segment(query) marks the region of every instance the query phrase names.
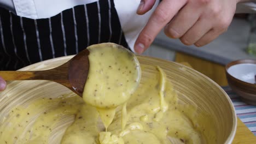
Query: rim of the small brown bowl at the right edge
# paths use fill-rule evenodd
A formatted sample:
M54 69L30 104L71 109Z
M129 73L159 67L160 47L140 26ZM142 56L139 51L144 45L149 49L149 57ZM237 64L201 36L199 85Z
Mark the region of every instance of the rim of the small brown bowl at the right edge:
M255 85L255 84L249 83L249 82L246 82L246 81L242 81L242 80L239 80L239 79L236 79L236 77L232 76L232 75L229 74L229 72L228 72L228 69L229 69L230 67L232 67L233 65L237 65L237 64L246 64L246 63L256 64L256 60L255 60L255 59L238 59L237 61L232 61L232 62L226 64L225 70L226 70L227 78L228 78L228 77L231 77L232 80L235 80L235 81L237 81L238 83L242 83L242 85L245 85L245 86L247 86L247 87L252 87L252 88L255 88L255 89L256 89L256 85Z

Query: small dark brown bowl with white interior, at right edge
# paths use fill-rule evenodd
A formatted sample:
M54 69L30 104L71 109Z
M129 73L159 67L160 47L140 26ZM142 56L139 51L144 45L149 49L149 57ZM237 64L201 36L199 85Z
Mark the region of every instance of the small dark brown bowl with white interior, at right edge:
M242 59L227 64L226 78L245 103L256 105L256 60Z

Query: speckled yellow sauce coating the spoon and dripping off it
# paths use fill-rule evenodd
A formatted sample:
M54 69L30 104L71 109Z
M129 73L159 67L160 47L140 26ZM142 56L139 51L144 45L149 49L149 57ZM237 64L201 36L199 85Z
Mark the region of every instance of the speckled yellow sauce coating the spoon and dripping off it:
M90 69L83 99L97 108L107 130L115 108L124 104L138 87L141 68L136 56L120 45L91 45L88 50ZM123 110L125 112L125 107Z

